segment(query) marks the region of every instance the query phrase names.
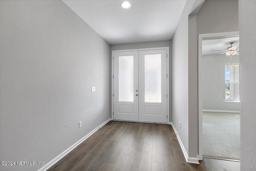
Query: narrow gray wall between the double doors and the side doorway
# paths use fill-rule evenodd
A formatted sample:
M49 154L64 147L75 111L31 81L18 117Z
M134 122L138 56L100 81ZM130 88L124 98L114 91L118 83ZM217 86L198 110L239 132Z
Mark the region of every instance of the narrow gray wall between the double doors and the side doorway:
M172 123L188 153L188 14L187 1L172 39ZM181 128L179 127L181 122Z

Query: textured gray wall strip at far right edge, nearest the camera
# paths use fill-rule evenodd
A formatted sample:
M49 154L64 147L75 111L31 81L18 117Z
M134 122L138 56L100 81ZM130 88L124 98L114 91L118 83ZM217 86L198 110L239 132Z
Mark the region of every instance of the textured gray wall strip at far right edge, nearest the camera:
M256 1L239 0L241 170L256 170Z

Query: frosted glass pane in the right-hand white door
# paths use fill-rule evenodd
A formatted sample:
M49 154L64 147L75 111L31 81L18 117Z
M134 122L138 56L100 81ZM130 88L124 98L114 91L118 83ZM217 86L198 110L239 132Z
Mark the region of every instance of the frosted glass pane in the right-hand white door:
M145 102L161 103L161 54L145 55Z

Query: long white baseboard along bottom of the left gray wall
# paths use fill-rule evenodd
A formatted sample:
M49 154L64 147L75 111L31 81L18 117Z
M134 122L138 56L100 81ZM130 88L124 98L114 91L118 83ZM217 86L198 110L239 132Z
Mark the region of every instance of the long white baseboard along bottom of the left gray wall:
M76 148L76 146L78 146L80 143L82 143L84 140L86 140L88 137L90 137L94 132L98 131L99 127L104 126L106 123L108 123L109 121L111 121L112 119L108 119L106 121L104 121L102 124L100 124L98 127L96 127L94 130L92 130L90 133L88 133L87 135L85 135L84 137L82 137L80 140L78 140L76 143L74 143L73 145L71 145L68 149L66 149L65 151L63 151L60 155L58 155L57 157L55 157L54 159L52 159L49 163L47 163L46 165L44 165L44 167L41 167L38 171L46 171L47 169L49 169L50 167L52 167L52 165L54 165L55 163L57 163L60 159L62 159L62 157L64 157L65 155L67 155L70 151L72 151L74 148Z

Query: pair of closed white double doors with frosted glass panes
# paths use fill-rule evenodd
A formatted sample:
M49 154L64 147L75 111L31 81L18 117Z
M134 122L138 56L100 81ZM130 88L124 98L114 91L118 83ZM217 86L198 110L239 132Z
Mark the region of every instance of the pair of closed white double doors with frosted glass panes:
M114 120L167 123L167 50L114 52Z

